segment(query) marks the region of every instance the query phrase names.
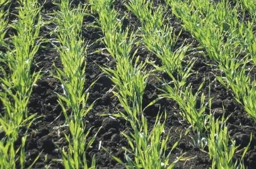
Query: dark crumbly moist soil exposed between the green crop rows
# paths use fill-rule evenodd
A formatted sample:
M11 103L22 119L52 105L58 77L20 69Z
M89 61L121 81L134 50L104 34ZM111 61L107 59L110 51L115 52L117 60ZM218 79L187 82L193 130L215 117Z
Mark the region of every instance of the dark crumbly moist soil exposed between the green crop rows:
M79 2L74 1L73 4L77 5ZM54 10L58 10L51 1L40 2L42 5L43 20L49 21L51 19L50 13ZM166 6L163 1L155 1L154 6L159 5ZM9 16L9 22L15 19L14 14L17 10L14 9L18 6L15 1L11 5L11 13ZM123 17L127 13L127 17L123 22L123 27L130 26L131 30L138 30L141 26L139 20L128 11L123 1L115 1L114 6L119 11L119 17ZM171 9L167 10L166 15L170 17L167 24L174 27L174 31L178 32L182 30L181 20L176 19L171 15ZM249 16L249 15L247 15ZM101 67L115 68L115 61L109 55L104 44L101 42L103 37L101 28L97 27L96 19L97 15L86 15L84 19L84 27L82 36L90 44L87 50L86 57L86 84L85 88L88 88L91 83L96 81L90 91L89 104L94 102L93 110L84 119L86 123L86 130L91 128L89 139L97 134L93 146L87 151L87 162L90 164L93 155L96 157L97 168L124 168L121 164L118 164L111 158L111 155L117 156L125 162L124 151L122 147L129 147L126 139L121 135L121 132L127 132L129 129L129 123L121 118L114 118L106 114L118 113L119 102L117 98L113 96L111 90L113 84L109 77L103 74ZM248 20L249 17L247 17ZM55 38L50 34L51 29L54 29L55 24L49 23L42 26L41 35L47 39ZM15 34L13 30L9 30L7 38ZM178 42L175 48L179 47L183 42L185 44L193 44L193 47L198 47L198 42L191 36L186 30L182 30L182 34L178 38ZM1 48L2 51L4 49ZM95 52L99 51L101 52ZM142 57L142 60L146 57L150 57L150 60L161 63L156 56L149 51L145 50L143 45L134 47L134 51L138 50L137 55ZM189 52L188 57L185 59L183 66L186 67L187 61L195 59L193 71L195 72L187 81L187 84L191 83L193 91L195 92L198 86L205 79L202 92L208 96L210 90L210 97L213 98L211 105L211 112L214 113L214 117L221 117L225 112L225 116L230 116L227 120L227 126L229 134L233 138L237 145L240 145L239 149L243 149L250 142L250 135L253 135L253 139L250 143L249 151L247 152L244 163L248 169L256 168L256 123L253 119L247 117L247 114L243 107L235 101L231 90L227 90L217 80L216 75L220 76L221 72L215 67L216 63L209 60L206 56L199 54L199 52ZM33 168L63 168L61 163L61 151L67 146L64 134L69 133L65 118L62 115L61 106L58 104L58 97L56 93L63 93L61 84L57 79L54 79L55 67L61 68L61 60L59 59L58 52L54 49L51 42L45 42L35 56L33 70L42 71L43 77L38 81L37 85L33 88L29 103L29 112L37 113L37 119L35 119L33 125L29 129L29 136L26 143L26 167L33 163L34 159L39 155L39 159L34 164ZM151 69L150 67L148 68ZM162 73L156 73L160 79L166 79L166 75ZM157 80L155 76L149 77L149 83L146 86L145 94L143 97L143 105L146 106L151 101L156 99L159 94L162 94L159 88L162 87L162 83ZM168 79L166 79L168 80ZM173 145L176 141L179 141L177 149L171 152L171 160L175 160L178 156L182 155L189 157L190 160L178 162L175 166L178 168L198 168L205 169L211 166L211 161L207 153L200 149L200 146L196 144L196 135L190 132L186 134L189 124L179 115L179 106L173 100L162 99L159 100L153 106L150 106L145 110L145 116L149 122L149 126L153 126L155 117L158 112L167 113L165 130L166 133L170 132L170 143ZM209 112L209 110L208 110ZM102 116L104 115L105 116ZM21 135L24 133L21 130ZM180 135L182 133L182 138ZM193 139L194 141L193 142ZM17 141L17 146L20 141ZM105 147L111 155L99 148L100 145ZM241 154L236 154L234 160L239 158ZM145 168L146 169L146 168Z

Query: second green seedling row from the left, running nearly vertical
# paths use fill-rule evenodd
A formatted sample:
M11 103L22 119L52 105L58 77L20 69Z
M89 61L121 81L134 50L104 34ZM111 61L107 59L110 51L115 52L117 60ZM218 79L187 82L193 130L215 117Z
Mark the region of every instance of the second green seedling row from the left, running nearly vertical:
M87 6L79 3L73 6L69 0L56 3L54 22L57 28L53 33L57 36L54 42L63 68L56 68L57 78L63 88L58 94L58 102L62 107L69 134L65 134L67 147L63 147L62 160L67 168L96 168L95 156L88 162L86 151L93 144L95 135L88 139L90 129L86 130L85 117L93 108L88 105L88 90L85 90L85 69L87 44L82 38L83 18ZM90 166L90 167L89 167Z

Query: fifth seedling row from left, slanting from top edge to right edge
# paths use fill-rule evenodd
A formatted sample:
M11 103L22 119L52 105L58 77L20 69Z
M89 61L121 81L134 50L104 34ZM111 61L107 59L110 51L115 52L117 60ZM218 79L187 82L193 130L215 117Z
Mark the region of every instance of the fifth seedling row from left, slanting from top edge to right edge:
M233 90L235 99L244 106L249 116L256 120L256 105L254 104L256 81L251 80L250 70L246 69L250 59L247 56L241 59L241 48L237 40L229 36L228 32L227 34L223 32L226 26L225 15L219 10L203 6L207 3L203 3L204 0L198 0L197 3L193 1L191 5L189 5L190 1L166 0L166 2L172 7L174 15L182 20L186 30L189 30L205 48L210 59L216 61L217 66L225 75L217 79ZM216 16L219 16L221 23L215 23Z

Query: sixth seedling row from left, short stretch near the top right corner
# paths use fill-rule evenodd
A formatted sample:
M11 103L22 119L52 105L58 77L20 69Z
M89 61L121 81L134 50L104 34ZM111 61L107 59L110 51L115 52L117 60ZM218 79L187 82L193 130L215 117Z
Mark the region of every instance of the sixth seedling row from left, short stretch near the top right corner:
M217 17L211 18L211 24L220 29L223 37L229 37L226 39L227 43L233 45L234 48L239 47L239 52L246 53L246 57L251 59L254 65L256 64L254 22L239 19L238 7L241 5L239 2L232 9L227 0L218 3L199 0L191 2L191 5L201 11L200 18L211 18L216 14Z

